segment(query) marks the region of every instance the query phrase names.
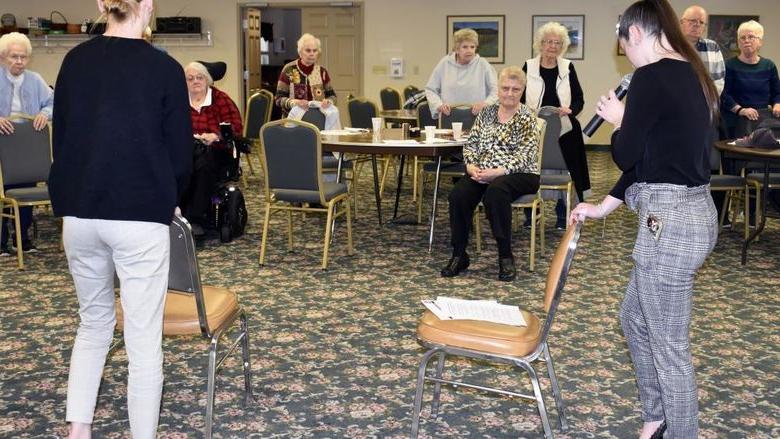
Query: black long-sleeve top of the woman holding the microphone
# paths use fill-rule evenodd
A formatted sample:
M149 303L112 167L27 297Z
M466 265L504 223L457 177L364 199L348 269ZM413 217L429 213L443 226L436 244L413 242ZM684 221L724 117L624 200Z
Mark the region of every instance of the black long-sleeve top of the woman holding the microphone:
M612 159L623 175L610 191L621 200L634 182L700 186L710 181L712 120L690 63L664 58L636 69Z

